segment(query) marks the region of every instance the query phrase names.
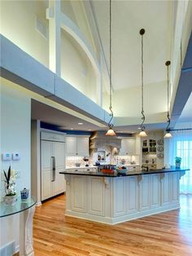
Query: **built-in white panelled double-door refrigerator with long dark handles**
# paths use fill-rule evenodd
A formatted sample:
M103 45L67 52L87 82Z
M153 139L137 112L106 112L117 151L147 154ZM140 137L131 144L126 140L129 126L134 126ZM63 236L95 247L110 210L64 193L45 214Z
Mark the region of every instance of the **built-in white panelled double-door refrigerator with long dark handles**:
M65 166L65 144L46 139L51 138L41 136L41 201L66 190L66 182L59 174Z

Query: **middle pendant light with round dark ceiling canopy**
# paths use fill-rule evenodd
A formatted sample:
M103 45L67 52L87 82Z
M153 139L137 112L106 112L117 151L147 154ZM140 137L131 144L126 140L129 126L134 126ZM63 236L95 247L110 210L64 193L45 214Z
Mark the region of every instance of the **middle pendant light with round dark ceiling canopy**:
M144 110L143 110L143 35L144 35L145 32L146 32L145 29L141 29L139 31L140 35L142 36L142 112L141 112L142 113L142 123L141 123L140 127L138 128L138 129L141 130L140 133L139 133L139 136L141 136L141 137L146 137L147 136L146 131L145 131L146 127L143 126L144 121L146 119L146 117L144 115Z

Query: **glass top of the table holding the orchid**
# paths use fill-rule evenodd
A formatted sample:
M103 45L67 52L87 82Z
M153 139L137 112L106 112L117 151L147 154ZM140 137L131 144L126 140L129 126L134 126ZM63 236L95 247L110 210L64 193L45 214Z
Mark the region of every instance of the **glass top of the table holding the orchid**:
M17 197L15 205L7 205L4 202L0 203L0 218L10 216L12 214L18 214L24 210L27 210L35 205L37 200L32 196L26 201L21 201L20 196Z

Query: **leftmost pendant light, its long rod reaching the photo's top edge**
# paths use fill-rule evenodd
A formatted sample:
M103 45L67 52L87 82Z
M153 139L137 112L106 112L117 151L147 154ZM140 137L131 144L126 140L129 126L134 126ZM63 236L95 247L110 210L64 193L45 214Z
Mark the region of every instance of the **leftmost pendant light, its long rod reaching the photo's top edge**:
M107 136L115 136L116 133L113 130L113 112L112 112L112 79L111 79L111 0L109 2L109 83L110 83L110 91L109 91L109 110L110 110L110 121L108 122L109 130L107 130Z

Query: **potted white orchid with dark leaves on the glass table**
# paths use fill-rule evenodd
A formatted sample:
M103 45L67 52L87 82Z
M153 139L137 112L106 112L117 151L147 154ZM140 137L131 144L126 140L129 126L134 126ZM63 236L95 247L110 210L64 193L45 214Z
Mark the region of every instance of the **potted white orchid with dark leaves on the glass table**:
M5 193L6 195L3 196L3 201L7 205L14 205L17 200L17 193L15 191L15 170L11 170L11 166L9 166L9 169L6 173L5 170L3 170L4 176L5 176Z

